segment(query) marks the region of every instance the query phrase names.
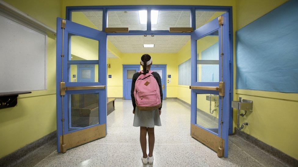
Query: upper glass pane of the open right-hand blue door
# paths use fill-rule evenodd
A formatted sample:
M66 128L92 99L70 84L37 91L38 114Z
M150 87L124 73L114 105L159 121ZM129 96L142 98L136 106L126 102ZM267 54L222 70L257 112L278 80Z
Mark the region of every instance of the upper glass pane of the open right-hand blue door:
M197 40L197 82L219 82L218 31Z

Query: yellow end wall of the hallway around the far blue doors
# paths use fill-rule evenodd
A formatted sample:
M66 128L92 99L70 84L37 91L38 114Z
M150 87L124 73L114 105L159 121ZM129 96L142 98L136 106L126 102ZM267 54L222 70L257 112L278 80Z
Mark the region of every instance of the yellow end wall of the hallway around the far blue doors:
M149 53L150 54L150 53ZM153 64L167 64L167 74L172 75L171 83L167 83L167 97L177 97L177 59L176 54L151 53ZM107 96L123 97L123 68L122 64L140 64L140 53L122 53L122 58L111 58L107 60L111 68L107 68Z

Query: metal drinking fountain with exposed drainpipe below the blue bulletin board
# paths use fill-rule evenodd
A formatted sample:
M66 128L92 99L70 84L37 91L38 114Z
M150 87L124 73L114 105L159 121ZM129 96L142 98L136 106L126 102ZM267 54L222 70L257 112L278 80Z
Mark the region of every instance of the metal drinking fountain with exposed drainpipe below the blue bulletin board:
M243 129L244 128L244 125L248 125L247 122L243 123L240 127L240 124L239 124L239 117L240 116L245 116L246 114L246 111L253 111L253 101L251 100L246 100L246 99L243 99L242 100L242 97L239 97L239 101L232 101L232 107L237 109L238 110L238 120L237 120L237 127L238 129ZM240 110L244 110L245 113L243 114L240 114Z

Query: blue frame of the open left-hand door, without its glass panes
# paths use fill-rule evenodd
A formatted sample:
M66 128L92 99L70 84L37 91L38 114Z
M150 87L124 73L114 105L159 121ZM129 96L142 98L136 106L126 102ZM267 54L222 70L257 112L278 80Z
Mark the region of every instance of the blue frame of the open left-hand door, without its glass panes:
M71 134L74 132L85 132L85 130L97 126L104 126L107 134L107 36L106 33L95 30L71 21L65 20L65 29L61 28L62 18L57 18L57 37L56 37L56 111L57 111L57 151L61 152L60 137L62 135ZM71 60L71 44L70 35L78 35L81 37L90 38L99 41L99 57L98 60ZM62 42L63 41L63 42ZM98 64L99 82L72 82L70 66L82 64ZM63 75L62 75L63 74ZM60 83L65 83L65 87L82 88L86 86L101 86L104 89L78 89L65 90L65 95L60 95ZM62 88L62 87L61 87ZM87 127L71 127L71 117L68 114L70 110L70 99L72 94L95 94L98 96L98 124ZM97 103L97 102L96 102ZM81 135L83 136L83 135ZM81 143L82 144L82 143Z

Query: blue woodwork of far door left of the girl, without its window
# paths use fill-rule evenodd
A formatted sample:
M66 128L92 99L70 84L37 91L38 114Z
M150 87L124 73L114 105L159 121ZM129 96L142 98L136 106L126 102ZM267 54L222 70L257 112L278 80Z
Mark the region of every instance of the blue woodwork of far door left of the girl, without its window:
M125 100L131 100L130 90L132 79L127 78L127 70L136 70L138 72L140 68L140 64L123 64L123 98Z

